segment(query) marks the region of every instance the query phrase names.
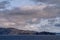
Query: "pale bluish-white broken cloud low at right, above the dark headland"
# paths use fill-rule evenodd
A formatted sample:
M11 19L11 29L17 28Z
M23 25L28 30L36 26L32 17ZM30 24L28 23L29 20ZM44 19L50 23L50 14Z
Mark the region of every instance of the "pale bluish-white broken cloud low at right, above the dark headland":
M47 32L60 33L60 28L58 26L55 26L56 24L60 24L60 22L59 22L60 21L60 17L49 18L49 19L41 18L38 21L37 21L38 22L37 24L33 23L33 24L26 25L26 28L31 27L31 29L29 29L29 30L32 30L32 28L33 29L36 28L33 31L37 31L37 32L47 31Z

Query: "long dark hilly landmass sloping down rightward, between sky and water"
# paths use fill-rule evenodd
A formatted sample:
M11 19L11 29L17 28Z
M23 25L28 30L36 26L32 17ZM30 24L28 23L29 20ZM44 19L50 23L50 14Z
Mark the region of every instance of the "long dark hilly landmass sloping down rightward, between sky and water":
M56 35L56 33L18 30L14 28L0 28L0 35Z

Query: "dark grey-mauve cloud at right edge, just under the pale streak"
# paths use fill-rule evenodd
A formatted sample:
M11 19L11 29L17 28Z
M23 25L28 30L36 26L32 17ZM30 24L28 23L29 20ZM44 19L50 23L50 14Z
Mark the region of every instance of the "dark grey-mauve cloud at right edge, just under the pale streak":
M51 16L58 16L60 15L60 8L57 7L46 7L43 9L48 14L51 14Z

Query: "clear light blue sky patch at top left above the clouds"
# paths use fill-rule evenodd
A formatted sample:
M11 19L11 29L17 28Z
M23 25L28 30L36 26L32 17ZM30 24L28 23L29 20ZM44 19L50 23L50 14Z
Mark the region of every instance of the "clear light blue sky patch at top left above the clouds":
M1 1L4 1L4 0L1 0ZM21 7L25 5L35 5L35 3L30 0L6 0L6 1L11 1L9 6L10 8Z

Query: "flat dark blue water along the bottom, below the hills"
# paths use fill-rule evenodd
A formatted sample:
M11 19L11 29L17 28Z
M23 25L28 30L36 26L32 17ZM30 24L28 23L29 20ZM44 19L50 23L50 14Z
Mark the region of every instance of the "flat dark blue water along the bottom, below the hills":
M59 35L0 35L0 40L60 40Z

